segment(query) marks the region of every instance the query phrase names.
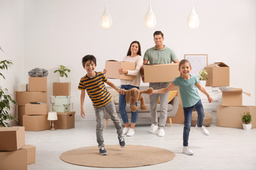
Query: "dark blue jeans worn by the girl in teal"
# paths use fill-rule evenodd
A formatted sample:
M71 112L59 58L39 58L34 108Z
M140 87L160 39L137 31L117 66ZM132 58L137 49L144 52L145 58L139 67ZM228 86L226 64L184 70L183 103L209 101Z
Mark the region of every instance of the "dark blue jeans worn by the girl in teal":
M196 109L196 112L198 112L198 127L203 126L203 118L205 116L203 111L203 105L202 101L198 101L196 105L192 107L183 107L184 110L184 129L183 129L183 146L188 146L188 136L190 132L191 127L191 119L192 119L192 111L193 109Z

